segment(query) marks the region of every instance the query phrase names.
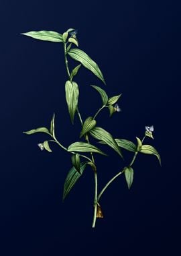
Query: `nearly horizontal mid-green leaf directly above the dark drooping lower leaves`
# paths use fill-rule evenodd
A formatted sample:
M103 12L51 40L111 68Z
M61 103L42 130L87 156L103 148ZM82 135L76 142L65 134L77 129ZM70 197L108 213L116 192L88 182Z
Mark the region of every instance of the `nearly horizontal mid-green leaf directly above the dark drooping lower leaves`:
M102 152L101 150L99 150L99 148L86 143L86 142L74 142L72 143L69 147L68 147L68 152L95 152L95 153L99 153L102 154L104 156L107 156L107 154L105 154L104 152Z

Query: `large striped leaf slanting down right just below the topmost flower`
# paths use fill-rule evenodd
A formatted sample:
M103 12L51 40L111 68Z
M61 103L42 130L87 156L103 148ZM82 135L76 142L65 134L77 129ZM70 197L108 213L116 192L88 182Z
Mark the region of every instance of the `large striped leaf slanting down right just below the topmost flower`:
M105 79L101 70L99 69L99 66L97 63L95 63L95 61L93 61L93 59L91 59L91 57L84 53L84 51L80 49L70 49L70 51L68 51L68 55L70 55L70 57L75 61L82 63L86 69L92 71L105 84Z

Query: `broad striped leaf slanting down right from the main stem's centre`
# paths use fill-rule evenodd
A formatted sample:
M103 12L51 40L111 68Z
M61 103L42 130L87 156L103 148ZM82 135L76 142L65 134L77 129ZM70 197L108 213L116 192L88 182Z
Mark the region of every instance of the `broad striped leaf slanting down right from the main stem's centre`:
M111 133L105 131L105 129L101 127L95 127L90 131L90 134L96 139L101 139L102 141L105 141L107 145L109 145L111 148L113 148L113 150L115 150L119 154L119 156L123 157L121 154L121 150L117 145L115 139L111 135Z

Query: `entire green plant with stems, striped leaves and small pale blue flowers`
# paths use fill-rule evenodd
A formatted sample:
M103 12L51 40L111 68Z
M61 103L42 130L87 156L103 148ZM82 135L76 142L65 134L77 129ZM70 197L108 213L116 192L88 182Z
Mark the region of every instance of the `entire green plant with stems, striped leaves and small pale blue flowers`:
M60 141L56 137L55 115L52 116L50 127L38 127L29 131L25 131L24 133L27 135L32 135L34 133L46 133L47 140L42 143L38 143L40 150L47 150L48 152L52 152L51 143L56 143L58 146L60 146L61 150L65 150L68 154L70 154L72 168L68 171L66 180L64 182L64 192L62 195L63 200L66 199L66 196L68 193L70 193L78 179L80 179L80 177L83 179L83 173L86 171L86 166L91 166L95 179L95 187L93 189L94 199L92 224L92 227L95 228L97 218L103 218L101 197L113 183L113 181L115 181L115 179L119 178L119 176L122 176L121 174L123 174L128 189L131 188L134 174L133 164L138 154L154 155L158 158L158 161L161 164L160 154L158 154L157 150L153 146L145 144L145 139L154 139L154 126L145 126L143 138L139 139L139 137L136 137L136 143L133 143L127 139L120 138L120 135L111 135L109 131L97 126L97 116L101 115L101 111L104 108L107 108L110 117L121 111L121 108L119 107L121 94L115 96L107 95L106 82L103 77L103 73L99 68L99 65L97 65L97 63L93 61L93 59L91 59L91 57L89 57L84 51L78 48L77 30L70 28L63 34L45 30L31 31L23 33L23 35L30 36L38 40L56 42L62 45L62 50L64 51L64 63L67 72L67 81L62 82L65 83L65 98L68 108L68 115L70 115L70 122L72 125L74 125L74 116L78 115L78 119L80 120L81 125L79 135L80 140L74 141L74 143L71 143L68 148L64 146L63 141ZM69 58L75 61L75 67L72 70L70 70L68 65ZM77 62L78 65L76 64ZM96 75L103 82L103 88L100 88L96 85L90 86L90 90L96 90L97 96L101 97L102 105L96 113L91 113L88 115L88 117L86 117L85 120L82 119L81 111L78 108L78 96L80 88L76 83L76 74L81 71L81 66L91 71L93 75ZM91 142L91 137L97 139L96 146ZM96 154L101 154L103 157L107 157L106 152L101 150L101 144L106 144L107 146L111 147L111 149L115 151L119 158L123 158L122 149L127 150L133 154L131 162L127 164L122 170L119 170L117 174L113 176L113 178L108 181L103 188L99 188L97 185L97 172L99 172L99 170L97 170Z

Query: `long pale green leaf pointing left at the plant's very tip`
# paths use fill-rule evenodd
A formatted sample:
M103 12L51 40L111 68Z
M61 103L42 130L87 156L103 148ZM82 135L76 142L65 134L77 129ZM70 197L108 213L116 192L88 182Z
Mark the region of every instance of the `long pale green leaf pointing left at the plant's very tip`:
M63 42L62 34L54 31L30 31L27 33L21 33L24 36L30 36L35 39L50 41L50 42Z

